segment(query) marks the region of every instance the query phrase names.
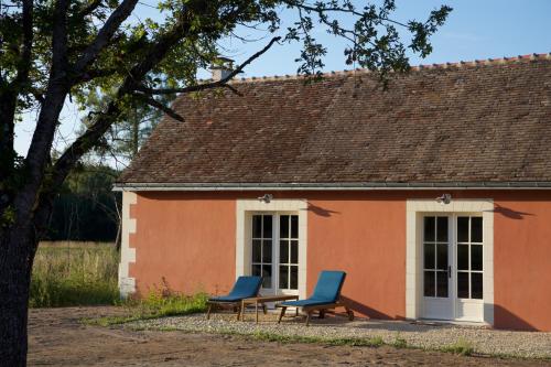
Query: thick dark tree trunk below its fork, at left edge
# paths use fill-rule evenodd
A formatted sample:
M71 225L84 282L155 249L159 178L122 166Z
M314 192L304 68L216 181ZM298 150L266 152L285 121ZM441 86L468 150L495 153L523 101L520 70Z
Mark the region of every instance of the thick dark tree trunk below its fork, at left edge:
M1 367L26 365L26 320L34 239L34 230L29 224L0 231Z

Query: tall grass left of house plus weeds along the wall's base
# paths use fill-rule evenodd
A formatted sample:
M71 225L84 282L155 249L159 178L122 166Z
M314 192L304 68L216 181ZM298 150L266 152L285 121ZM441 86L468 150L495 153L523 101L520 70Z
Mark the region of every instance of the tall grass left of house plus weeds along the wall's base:
M206 310L206 294L180 294L163 284L140 299L121 301L117 284L118 263L119 253L112 244L42 242L34 260L29 305L116 304L128 307L128 316L108 319L106 323Z

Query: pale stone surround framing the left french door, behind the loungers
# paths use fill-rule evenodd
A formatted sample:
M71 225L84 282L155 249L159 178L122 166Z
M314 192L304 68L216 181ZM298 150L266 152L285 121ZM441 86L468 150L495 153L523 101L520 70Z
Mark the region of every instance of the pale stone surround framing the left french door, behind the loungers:
M271 199L264 203L259 199L236 201L236 278L248 276L251 270L251 235L253 214L293 214L299 215L299 296L306 296L306 251L307 251L307 201L306 199ZM277 222L277 220L274 220ZM279 225L277 226L279 227ZM279 244L273 242L273 246ZM278 251L279 253L279 251ZM272 277L274 271L272 269ZM274 280L272 280L273 284Z

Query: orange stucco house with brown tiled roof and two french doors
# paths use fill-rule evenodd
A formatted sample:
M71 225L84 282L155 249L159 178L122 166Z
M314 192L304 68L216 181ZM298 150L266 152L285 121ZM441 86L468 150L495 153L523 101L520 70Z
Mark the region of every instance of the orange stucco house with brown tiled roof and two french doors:
M307 295L551 331L551 55L181 96L117 183L120 290Z

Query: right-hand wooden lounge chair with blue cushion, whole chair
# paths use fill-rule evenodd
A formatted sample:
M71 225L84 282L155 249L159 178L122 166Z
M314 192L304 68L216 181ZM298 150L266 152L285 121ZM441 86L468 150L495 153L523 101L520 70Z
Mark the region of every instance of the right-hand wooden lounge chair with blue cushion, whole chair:
M318 311L320 319L323 319L326 310L339 306L345 307L348 320L353 321L354 313L341 300L341 289L343 288L346 273L344 271L322 271L312 296L306 300L288 301L277 305L281 307L278 323L280 323L281 319L284 316L287 307L302 307L302 311L306 313L306 326L310 325L312 312Z

